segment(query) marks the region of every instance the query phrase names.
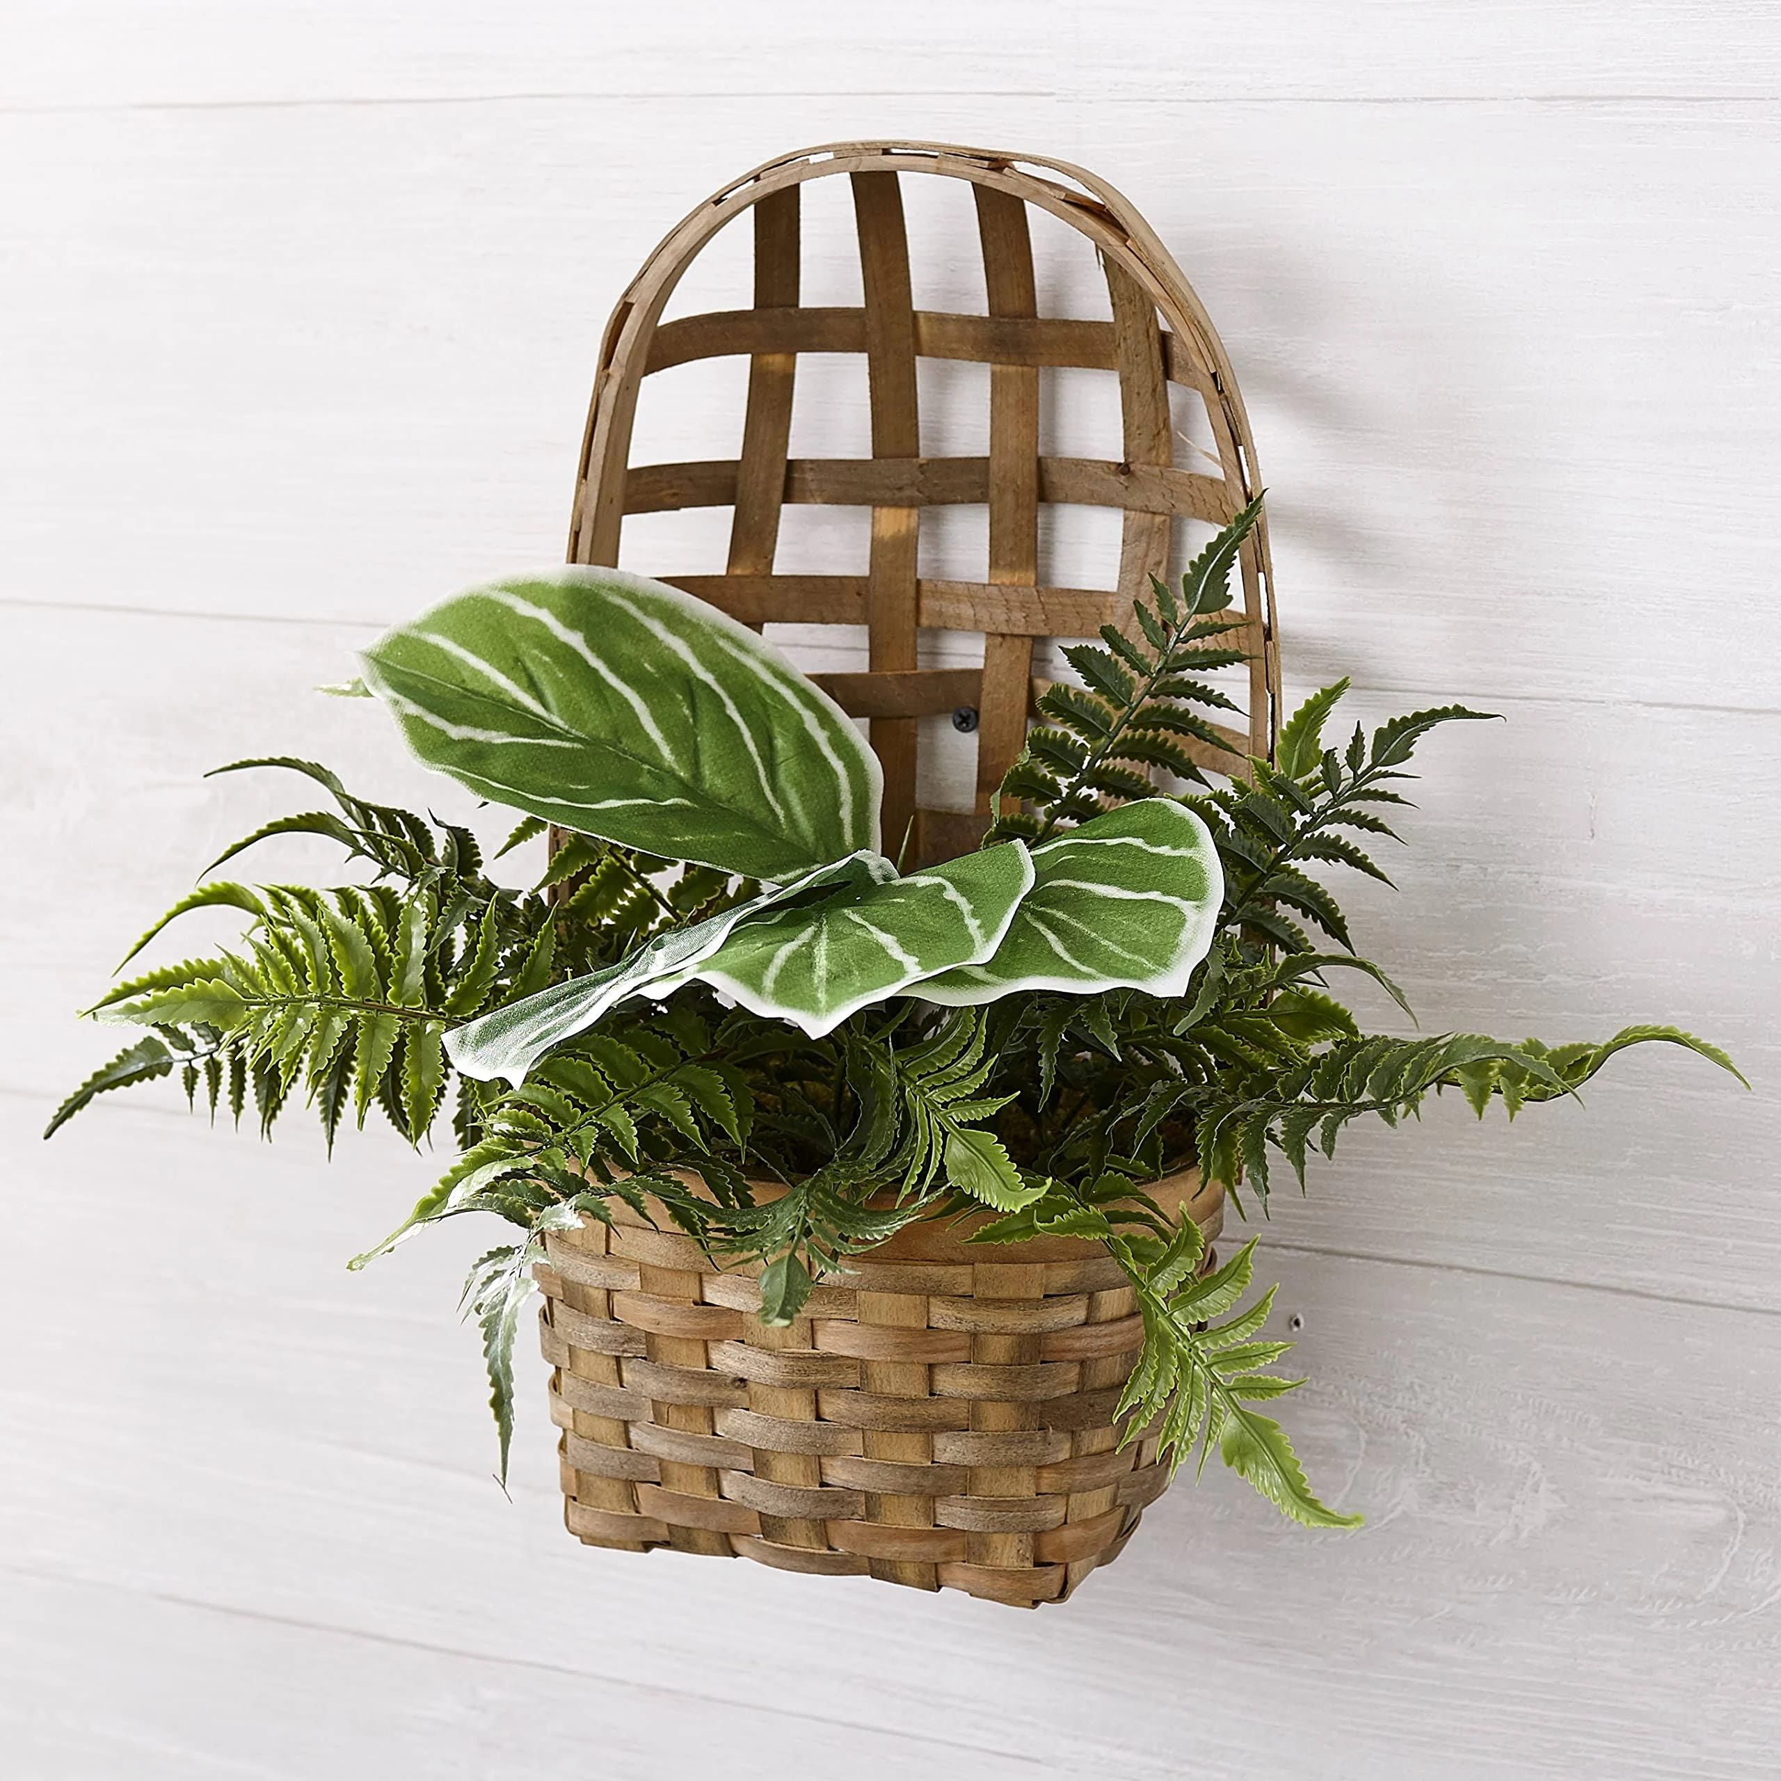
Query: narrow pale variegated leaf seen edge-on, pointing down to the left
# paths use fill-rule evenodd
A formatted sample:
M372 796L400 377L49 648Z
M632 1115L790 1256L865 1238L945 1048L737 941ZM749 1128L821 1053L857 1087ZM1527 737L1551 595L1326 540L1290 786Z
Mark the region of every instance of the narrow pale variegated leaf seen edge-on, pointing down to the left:
M554 983L536 996L495 1008L467 1026L459 1026L445 1040L451 1061L479 1081L506 1078L518 1086L531 1067L563 1040L586 1033L609 1008L627 996L655 988L663 980L680 976L687 967L714 953L730 930L748 915L771 908L775 903L803 899L826 885L846 885L855 880L873 883L896 867L876 853L855 853L819 871L807 873L778 890L768 890L750 903L737 903L718 915L675 928L638 947L629 958L593 971L588 976Z

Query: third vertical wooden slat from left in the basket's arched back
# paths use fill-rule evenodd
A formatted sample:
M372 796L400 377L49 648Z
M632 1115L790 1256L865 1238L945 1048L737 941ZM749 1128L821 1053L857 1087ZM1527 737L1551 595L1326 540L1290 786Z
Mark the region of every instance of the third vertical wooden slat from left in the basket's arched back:
M1033 240L1026 205L987 185L971 189L983 242L990 315L1033 315ZM990 365L990 584L1038 582L1038 370ZM919 602L917 602L919 604ZM1033 638L983 625L983 691L978 702L978 814L1026 744L1033 684Z

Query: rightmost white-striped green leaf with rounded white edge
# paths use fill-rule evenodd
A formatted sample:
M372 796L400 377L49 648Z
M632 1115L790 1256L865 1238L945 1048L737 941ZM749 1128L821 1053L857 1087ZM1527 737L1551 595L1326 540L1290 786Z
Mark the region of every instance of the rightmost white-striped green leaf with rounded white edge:
M985 964L921 985L924 1001L990 1003L1013 990L1181 996L1224 901L1211 832L1174 798L1140 798L1033 850L1035 883Z

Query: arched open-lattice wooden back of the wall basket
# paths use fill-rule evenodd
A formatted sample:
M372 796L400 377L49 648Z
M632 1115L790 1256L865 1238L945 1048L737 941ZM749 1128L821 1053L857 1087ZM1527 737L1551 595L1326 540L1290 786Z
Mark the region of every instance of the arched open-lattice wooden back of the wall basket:
M800 308L800 191L846 175L853 191L864 305ZM976 199L987 313L915 310L910 299L903 175L967 180ZM1038 315L1028 207L1081 232L1106 271L1111 321ZM663 308L700 249L741 212L753 212L753 308L663 322ZM787 458L800 353L860 353L867 363L873 456ZM750 362L741 456L728 461L632 465L630 435L643 379L723 354ZM987 458L930 458L921 447L917 356L990 367ZM1040 392L1054 367L1118 379L1118 461L1040 454ZM1168 385L1206 404L1218 474L1177 463ZM914 825L910 858L967 851L988 821L990 794L1021 752L1035 696L1033 645L1129 625L1131 600L1170 570L1175 518L1224 525L1259 488L1256 451L1236 378L1199 299L1163 244L1110 185L1065 162L933 142L841 142L766 162L687 216L620 297L600 349L570 525L572 563L618 563L627 513L734 509L723 575L663 575L750 625L867 627L866 673L817 675L839 703L869 720L885 769L885 844ZM871 550L834 575L775 573L780 509L825 502L871 509ZM1122 513L1117 566L1102 588L1047 586L1038 513L1047 502ZM917 573L923 508L988 508L983 581ZM655 573L652 570L652 573ZM1243 557L1252 655L1243 753L1273 746L1279 661L1266 522ZM983 666L921 668L917 629L983 632ZM1220 639L1224 641L1224 639ZM1040 684L1042 686L1042 684ZM976 805L915 803L917 720L974 709ZM969 720L964 720L969 723ZM1208 750L1211 766L1231 760Z

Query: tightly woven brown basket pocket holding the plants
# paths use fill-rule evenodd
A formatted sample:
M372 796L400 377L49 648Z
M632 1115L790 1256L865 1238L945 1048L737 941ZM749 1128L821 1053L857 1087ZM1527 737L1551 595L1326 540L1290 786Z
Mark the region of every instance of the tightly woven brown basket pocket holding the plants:
M538 1270L566 1521L591 1546L1035 1606L1113 1558L1168 1484L1154 1437L1118 1446L1143 1332L1095 1243L985 1250L915 1225L766 1329L759 1265L720 1272L613 1213L550 1232ZM1222 1199L1191 1213L1211 1234Z

